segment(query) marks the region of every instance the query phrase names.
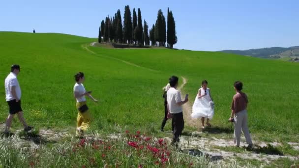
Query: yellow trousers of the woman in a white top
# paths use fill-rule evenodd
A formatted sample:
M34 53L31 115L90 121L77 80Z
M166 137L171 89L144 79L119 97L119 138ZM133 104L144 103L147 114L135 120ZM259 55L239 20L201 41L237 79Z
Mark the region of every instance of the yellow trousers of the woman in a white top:
M78 111L76 135L80 135L78 129L85 131L90 127L91 115L89 110L83 113L78 110L78 108L82 107L83 105L86 105L86 101L77 102L76 104L77 111Z

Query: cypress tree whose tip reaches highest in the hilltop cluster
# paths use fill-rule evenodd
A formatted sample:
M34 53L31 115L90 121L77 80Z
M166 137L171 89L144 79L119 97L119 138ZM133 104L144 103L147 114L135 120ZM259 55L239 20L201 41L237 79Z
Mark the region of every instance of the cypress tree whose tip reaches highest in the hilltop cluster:
M133 28L132 28L132 17L130 6L127 5L124 7L124 16L123 16L123 40L124 43L130 44L133 39Z

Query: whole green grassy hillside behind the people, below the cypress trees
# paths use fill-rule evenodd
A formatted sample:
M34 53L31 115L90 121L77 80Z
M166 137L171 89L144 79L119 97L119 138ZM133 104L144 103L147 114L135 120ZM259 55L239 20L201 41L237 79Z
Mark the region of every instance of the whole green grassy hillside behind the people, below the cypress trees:
M73 76L82 71L86 89L100 100L98 106L88 102L94 129L111 132L119 125L157 132L163 118L161 88L177 75L188 79L183 92L190 94L191 104L201 81L208 80L216 105L214 126L230 127L233 83L241 80L250 102L251 132L291 136L299 131L298 63L220 52L91 47L96 39L56 33L0 32L0 39L0 80L11 64L21 65L23 110L35 126L75 126ZM4 96L3 87L0 122L8 111Z

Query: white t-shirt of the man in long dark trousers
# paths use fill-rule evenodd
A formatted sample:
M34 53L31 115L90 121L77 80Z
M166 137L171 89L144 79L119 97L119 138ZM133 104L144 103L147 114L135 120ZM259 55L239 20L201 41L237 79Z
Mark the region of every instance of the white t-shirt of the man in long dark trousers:
M169 88L167 91L167 103L170 113L179 113L183 111L182 107L177 104L179 102L181 102L179 90L174 87Z

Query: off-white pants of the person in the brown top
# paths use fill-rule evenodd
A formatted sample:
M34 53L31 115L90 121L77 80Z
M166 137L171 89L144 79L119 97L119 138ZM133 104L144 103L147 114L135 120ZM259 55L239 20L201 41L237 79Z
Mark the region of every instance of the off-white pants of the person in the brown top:
M234 143L239 146L241 140L241 130L247 144L252 144L251 137L247 126L247 111L243 110L235 114Z

